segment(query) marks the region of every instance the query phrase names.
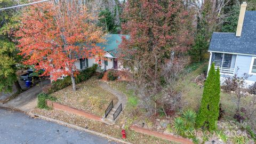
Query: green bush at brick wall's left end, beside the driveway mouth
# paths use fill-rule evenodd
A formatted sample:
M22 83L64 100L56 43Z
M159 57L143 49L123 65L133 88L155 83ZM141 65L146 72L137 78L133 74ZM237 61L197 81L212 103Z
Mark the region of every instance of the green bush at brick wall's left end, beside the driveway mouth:
M51 100L51 101L56 101L57 100L57 98L52 97L50 94L45 94L45 93L39 93L37 95L37 99L38 99L37 107L41 108L41 109L43 109L43 108L44 109L49 109L49 107L47 107L47 105L46 105L45 100Z

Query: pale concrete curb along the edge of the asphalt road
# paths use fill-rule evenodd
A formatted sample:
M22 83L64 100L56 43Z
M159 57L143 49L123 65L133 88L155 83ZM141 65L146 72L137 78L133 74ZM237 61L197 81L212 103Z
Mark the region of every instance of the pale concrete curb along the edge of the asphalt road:
M114 138L114 137L110 137L110 136L107 135L107 134L103 134L103 133L95 132L95 131L92 131L92 130L88 130L88 129L85 129L85 128L83 128L83 127L80 127L80 126L77 126L77 125L74 125L74 124L69 124L69 123L66 123L66 122L63 122L63 121L59 121L59 120L57 120L57 119L53 119L53 118L50 118L50 117L46 117L46 116L42 116L42 115L33 114L33 113L31 113L31 112L29 112L28 115L29 115L30 117L38 117L38 118L44 119L44 120L46 120L46 121L58 123L58 124L60 124L60 125L64 125L64 126L67 126L67 127L71 127L71 128L77 129L77 130L89 132L89 133L92 133L92 134L94 134L94 135L98 135L98 136L100 136L100 137L107 138L107 139L110 139L110 140L114 140L114 141L117 141L117 142L126 143L126 144L132 144L131 142L127 142L127 141L124 141L124 140L121 140L121 139L117 139L117 138Z

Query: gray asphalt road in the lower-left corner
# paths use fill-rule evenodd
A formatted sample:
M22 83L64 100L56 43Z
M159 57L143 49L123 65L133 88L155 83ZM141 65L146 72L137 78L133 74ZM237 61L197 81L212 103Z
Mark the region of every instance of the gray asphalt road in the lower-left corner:
M116 143L105 138L0 107L0 143Z

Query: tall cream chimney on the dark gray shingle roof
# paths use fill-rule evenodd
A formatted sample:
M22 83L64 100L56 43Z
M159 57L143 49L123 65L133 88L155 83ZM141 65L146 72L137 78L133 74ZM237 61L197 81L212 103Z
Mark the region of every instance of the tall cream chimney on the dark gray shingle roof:
M236 29L236 37L240 37L242 33L243 23L244 23L244 15L246 11L246 2L243 2L241 4L241 9L239 13L238 23L237 23L237 29Z

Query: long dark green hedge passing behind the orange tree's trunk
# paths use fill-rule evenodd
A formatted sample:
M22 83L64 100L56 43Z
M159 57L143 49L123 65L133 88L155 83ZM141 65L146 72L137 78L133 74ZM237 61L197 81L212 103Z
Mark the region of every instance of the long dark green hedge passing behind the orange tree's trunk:
M92 67L82 70L80 72L80 74L77 75L75 78L76 83L81 83L83 81L86 81L90 77L92 77L93 74L95 73L95 71L97 70L97 68L98 68L98 65L94 64ZM49 93L53 93L53 92L62 90L71 84L72 84L72 82L71 82L70 76L66 76L63 79L58 79L57 81L53 81L52 85L50 87Z

